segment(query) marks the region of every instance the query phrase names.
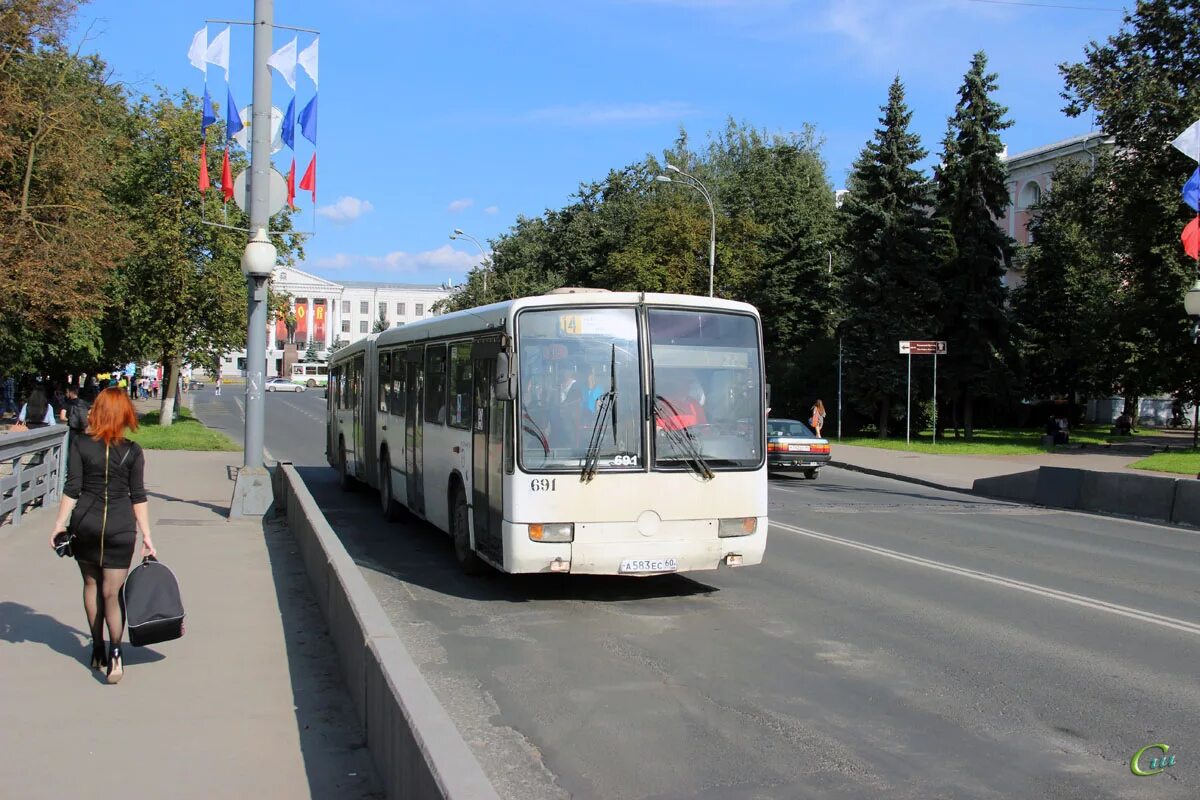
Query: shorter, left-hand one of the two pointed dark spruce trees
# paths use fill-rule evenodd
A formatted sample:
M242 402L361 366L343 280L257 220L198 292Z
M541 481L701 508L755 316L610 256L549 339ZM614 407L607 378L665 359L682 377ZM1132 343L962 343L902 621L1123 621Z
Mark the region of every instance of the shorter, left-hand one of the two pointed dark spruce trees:
M936 330L938 302L931 260L930 198L914 167L928 154L910 132L899 76L875 138L863 148L842 205L846 251L845 351L851 401L874 413L886 437L893 404L905 392L900 339L926 338Z

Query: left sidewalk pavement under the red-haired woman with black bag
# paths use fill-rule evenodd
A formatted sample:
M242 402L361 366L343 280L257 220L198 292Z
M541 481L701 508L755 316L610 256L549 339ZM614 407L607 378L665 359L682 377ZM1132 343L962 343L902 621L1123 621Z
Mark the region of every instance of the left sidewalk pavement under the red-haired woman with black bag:
M48 543L56 507L0 528L0 794L384 796L290 533L227 518L239 461L146 452L186 633L126 644L116 686L88 668L79 571Z

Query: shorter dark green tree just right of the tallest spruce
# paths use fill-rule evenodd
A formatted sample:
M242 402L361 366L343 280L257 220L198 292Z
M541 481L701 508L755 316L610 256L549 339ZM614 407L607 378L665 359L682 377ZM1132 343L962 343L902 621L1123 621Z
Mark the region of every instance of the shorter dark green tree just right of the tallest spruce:
M1013 308L1034 396L1111 392L1115 360L1128 356L1110 336L1120 285L1096 225L1110 213L1110 168L1109 158L1094 170L1087 162L1061 163L1054 191L1034 210L1032 243L1018 257L1025 283L1013 293Z

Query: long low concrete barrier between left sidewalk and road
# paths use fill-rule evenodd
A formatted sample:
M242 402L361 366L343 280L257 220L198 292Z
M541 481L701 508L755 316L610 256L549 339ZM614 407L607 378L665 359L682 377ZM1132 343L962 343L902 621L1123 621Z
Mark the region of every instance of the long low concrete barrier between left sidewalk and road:
M299 473L287 463L276 471L276 510L287 515L388 796L499 800Z

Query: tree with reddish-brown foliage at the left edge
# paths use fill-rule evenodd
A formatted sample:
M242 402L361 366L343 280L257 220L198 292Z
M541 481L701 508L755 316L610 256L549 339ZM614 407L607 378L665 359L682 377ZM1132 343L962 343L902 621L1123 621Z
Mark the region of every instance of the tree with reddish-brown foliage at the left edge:
M110 201L122 90L65 43L70 0L0 4L0 363L91 368L104 287L128 249Z

